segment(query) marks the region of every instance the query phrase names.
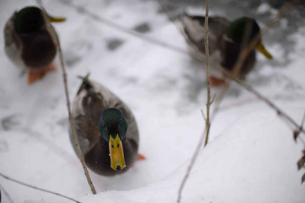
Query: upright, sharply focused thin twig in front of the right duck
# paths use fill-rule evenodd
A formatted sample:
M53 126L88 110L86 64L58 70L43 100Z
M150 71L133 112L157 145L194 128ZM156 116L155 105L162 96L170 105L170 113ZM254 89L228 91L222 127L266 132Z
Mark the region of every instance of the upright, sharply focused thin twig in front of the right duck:
M208 143L210 133L210 105L211 105L211 93L210 93L210 67L209 67L209 38L208 38L208 19L209 19L209 0L206 0L206 16L204 22L204 44L206 48L206 84L207 84L207 101L206 101L206 138L204 146Z

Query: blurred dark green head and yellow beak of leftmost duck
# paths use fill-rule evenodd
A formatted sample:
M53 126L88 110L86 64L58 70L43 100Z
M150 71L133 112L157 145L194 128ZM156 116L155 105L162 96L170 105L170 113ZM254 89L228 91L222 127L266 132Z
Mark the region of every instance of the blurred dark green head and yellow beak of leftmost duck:
M21 9L16 14L15 30L17 33L32 33L41 29L45 21L62 22L65 18L49 16L43 10L29 6Z

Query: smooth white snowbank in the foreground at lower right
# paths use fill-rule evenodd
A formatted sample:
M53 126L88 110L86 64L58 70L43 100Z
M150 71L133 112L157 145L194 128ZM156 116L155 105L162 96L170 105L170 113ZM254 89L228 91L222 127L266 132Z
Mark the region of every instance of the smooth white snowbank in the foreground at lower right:
M287 112L301 119L304 110L290 108ZM182 201L304 202L302 173L296 172L292 158L301 156L303 146L292 142L291 134L271 110L240 117L200 152ZM175 202L188 164L158 183L132 191L90 194L80 201Z

